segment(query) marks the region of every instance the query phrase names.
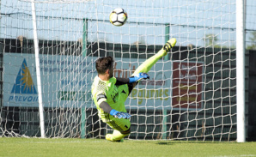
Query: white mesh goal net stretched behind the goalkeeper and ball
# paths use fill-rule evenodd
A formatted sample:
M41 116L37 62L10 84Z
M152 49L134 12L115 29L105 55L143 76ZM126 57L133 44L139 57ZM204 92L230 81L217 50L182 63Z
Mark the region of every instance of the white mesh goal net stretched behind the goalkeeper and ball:
M95 60L112 56L114 75L129 77L176 38L125 101L125 138L235 141L235 1L35 0L35 31L32 2L1 0L0 136L42 136L44 122L46 137L104 138L112 130L91 97ZM122 27L108 20L115 8L128 14Z

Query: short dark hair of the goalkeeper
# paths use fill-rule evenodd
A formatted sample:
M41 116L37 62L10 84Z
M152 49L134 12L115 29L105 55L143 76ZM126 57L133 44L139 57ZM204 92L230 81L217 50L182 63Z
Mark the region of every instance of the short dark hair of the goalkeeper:
M110 69L111 66L113 66L113 57L108 56L108 57L100 57L99 59L96 60L96 69L98 74L104 74L107 69Z

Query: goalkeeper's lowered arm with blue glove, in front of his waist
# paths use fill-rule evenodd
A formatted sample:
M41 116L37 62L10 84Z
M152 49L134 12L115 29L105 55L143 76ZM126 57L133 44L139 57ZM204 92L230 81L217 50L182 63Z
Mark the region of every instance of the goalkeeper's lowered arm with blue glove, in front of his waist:
M109 105L107 104L106 101L102 101L101 104L100 104L100 107L101 107L101 109L102 109L104 112L109 113L109 114L112 115L114 118L125 118L125 119L131 118L131 115L130 115L129 113L126 113L126 112L118 112L118 111L114 110L111 106L109 106Z

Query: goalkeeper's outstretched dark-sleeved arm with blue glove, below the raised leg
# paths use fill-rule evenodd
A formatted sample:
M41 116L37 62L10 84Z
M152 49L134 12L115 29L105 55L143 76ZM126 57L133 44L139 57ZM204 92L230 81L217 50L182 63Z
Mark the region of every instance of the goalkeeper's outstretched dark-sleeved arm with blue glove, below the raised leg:
M142 79L149 79L149 75L147 73L138 73L137 75L133 75L129 78L116 77L116 79L117 79L116 85L123 85L123 84L134 83L134 82L137 83Z

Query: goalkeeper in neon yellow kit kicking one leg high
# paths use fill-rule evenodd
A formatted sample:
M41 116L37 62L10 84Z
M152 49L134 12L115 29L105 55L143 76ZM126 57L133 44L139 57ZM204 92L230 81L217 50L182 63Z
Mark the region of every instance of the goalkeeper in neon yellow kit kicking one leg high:
M168 42L153 57L149 57L131 75L130 78L114 77L113 57L101 57L96 60L98 75L92 85L93 100L101 120L113 128L113 134L106 139L112 142L123 142L123 138L131 133L131 115L125 110L125 100L135 88L137 82L149 79L149 69L176 44L176 39Z

